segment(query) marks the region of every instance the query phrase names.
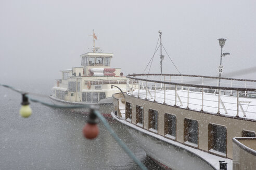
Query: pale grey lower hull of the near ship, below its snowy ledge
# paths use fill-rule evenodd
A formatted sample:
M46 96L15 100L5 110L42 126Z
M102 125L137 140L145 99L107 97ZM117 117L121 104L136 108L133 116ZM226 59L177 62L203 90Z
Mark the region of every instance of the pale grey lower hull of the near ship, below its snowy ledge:
M215 169L208 162L188 150L170 145L131 127L128 131L147 155L164 169Z

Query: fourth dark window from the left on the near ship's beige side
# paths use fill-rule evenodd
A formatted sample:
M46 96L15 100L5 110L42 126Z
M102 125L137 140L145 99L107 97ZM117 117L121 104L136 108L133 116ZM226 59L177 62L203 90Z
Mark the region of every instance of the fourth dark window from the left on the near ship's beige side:
M176 116L175 115L164 114L164 135L167 135L167 137L176 138Z

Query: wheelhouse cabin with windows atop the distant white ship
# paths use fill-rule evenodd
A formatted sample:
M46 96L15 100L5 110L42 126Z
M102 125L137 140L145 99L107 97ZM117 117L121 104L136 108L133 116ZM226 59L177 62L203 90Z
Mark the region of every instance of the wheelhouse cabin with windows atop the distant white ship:
M113 58L113 53L87 52L80 56L82 58L81 65L84 67L84 75L88 76L91 68L110 68L110 60Z

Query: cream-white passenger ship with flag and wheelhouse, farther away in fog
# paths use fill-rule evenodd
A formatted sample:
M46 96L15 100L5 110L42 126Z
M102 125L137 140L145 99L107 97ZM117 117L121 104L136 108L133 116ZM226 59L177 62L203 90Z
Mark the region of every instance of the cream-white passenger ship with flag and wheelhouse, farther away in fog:
M116 85L126 90L126 77L120 68L111 68L113 53L99 52L95 47L96 35L93 32L93 52L80 55L81 67L61 70L62 78L56 80L52 98L72 104L112 103L112 94L117 93Z

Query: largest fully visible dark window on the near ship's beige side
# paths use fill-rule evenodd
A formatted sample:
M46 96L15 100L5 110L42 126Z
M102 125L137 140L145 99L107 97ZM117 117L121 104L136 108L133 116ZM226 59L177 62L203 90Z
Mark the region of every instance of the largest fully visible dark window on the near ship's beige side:
M225 126L208 125L208 149L212 152L226 153L227 129Z

